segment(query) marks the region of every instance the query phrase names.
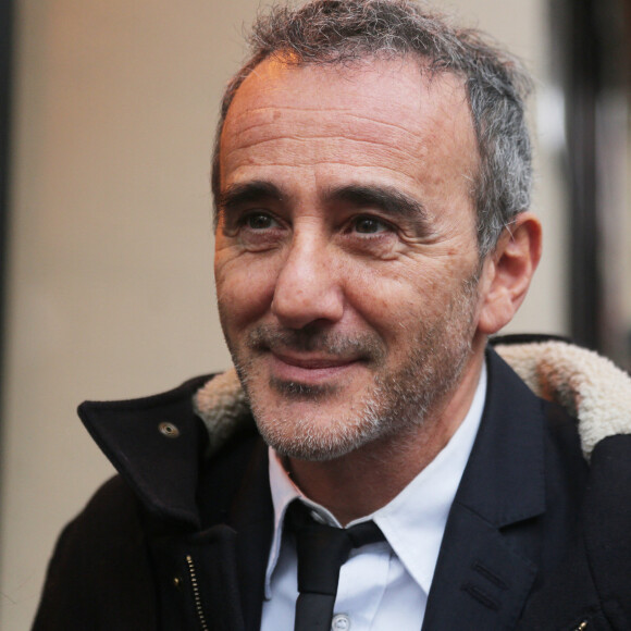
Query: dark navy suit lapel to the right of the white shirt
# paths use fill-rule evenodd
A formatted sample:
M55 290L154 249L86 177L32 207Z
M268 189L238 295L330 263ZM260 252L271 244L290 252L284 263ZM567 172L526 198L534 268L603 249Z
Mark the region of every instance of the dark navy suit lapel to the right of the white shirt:
M537 572L528 520L545 509L544 416L493 350L487 359L485 409L447 520L428 630L514 628Z

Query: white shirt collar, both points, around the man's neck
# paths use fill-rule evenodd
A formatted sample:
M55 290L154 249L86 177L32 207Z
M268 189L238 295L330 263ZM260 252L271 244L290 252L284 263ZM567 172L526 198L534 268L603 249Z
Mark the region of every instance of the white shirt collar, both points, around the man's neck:
M449 509L473 448L485 398L486 364L483 363L471 407L447 445L394 499L373 515L348 524L372 519L425 594L430 592ZM272 573L281 553L283 520L289 504L300 498L323 521L339 525L326 508L311 502L301 493L285 471L280 456L271 447L269 460L274 534L265 572L268 599L271 597Z

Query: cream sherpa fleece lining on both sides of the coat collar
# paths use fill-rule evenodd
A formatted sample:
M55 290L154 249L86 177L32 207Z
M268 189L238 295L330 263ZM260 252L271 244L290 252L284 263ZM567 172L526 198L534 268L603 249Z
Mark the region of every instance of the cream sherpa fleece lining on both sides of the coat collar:
M578 418L585 458L603 438L631 434L631 378L610 360L556 339L494 348L535 395ZM209 430L211 454L243 424L251 423L234 369L197 392L195 409Z

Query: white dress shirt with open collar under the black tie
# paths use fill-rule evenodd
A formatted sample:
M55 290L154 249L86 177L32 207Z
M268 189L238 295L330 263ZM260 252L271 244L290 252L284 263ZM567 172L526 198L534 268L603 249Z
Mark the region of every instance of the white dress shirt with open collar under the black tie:
M339 572L333 631L420 631L447 516L480 426L486 397L483 366L467 417L451 440L392 502L348 527L372 519L386 541L354 549ZM265 574L261 631L292 631L297 590L296 549L283 537L287 506L299 497L316 519L339 527L305 497L270 448L274 535Z

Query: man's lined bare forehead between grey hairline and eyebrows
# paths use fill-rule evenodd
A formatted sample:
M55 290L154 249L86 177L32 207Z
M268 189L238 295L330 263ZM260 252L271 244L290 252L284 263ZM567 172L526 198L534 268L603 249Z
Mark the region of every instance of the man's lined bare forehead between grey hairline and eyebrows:
M469 194L477 165L462 82L406 59L351 67L267 60L238 88L220 145L222 188L255 170L330 180L351 169L425 195L438 184Z

